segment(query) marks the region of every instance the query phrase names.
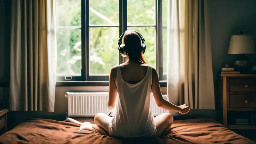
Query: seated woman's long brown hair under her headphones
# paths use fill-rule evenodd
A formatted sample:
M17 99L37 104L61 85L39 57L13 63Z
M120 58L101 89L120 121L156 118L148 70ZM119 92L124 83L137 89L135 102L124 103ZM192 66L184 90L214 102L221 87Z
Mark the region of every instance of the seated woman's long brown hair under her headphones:
M139 64L146 64L141 54L141 38L137 32L126 31L122 38L122 44L125 45L129 59Z

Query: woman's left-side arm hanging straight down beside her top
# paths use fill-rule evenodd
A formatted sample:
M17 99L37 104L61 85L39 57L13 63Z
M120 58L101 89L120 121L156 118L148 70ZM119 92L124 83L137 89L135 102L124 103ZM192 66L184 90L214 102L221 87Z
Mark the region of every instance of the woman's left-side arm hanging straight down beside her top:
M115 79L117 75L117 67L114 66L111 68L109 74L109 101L107 102L107 107L112 109L115 106L115 100L117 98L117 87L115 84Z

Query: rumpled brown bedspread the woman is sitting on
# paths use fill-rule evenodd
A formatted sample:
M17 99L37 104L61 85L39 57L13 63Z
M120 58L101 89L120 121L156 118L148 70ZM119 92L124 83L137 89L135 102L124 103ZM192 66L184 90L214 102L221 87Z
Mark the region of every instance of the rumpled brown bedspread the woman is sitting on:
M255 144L235 134L212 119L174 121L170 134L157 138L116 139L100 135L98 131L78 131L79 125L49 119L27 120L0 136L3 144L54 143L54 144L123 144L123 143L231 143Z

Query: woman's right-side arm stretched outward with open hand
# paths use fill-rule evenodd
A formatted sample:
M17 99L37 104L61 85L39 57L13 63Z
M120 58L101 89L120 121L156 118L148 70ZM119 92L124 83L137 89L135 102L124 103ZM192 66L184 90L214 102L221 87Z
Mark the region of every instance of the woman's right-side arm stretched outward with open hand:
M158 77L157 71L154 68L152 68L152 92L153 92L155 102L159 107L168 111L179 112L182 114L186 113L186 112L183 112L183 109L186 109L185 111L189 111L189 107L181 108L163 99L161 89L159 86L159 77Z

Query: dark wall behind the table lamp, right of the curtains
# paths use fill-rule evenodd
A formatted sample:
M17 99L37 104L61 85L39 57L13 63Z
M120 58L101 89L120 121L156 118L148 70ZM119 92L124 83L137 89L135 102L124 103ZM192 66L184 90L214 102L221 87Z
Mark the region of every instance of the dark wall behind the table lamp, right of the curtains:
M222 66L237 55L227 54L231 35L252 34L256 45L256 0L208 0L215 86ZM247 55L256 65L256 55Z

